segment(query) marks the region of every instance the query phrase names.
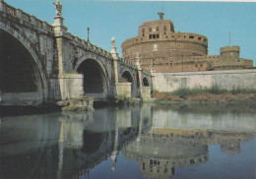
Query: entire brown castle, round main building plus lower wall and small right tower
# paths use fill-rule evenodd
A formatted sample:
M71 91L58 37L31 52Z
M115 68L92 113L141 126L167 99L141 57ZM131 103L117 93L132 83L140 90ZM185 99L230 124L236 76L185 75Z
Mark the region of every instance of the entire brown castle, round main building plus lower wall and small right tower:
M208 38L175 32L173 22L163 19L143 23L139 35L122 43L123 58L157 73L239 70L253 68L253 61L239 57L239 46L225 46L220 55L208 55Z

